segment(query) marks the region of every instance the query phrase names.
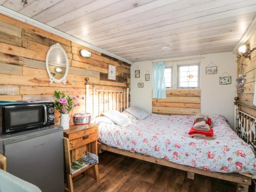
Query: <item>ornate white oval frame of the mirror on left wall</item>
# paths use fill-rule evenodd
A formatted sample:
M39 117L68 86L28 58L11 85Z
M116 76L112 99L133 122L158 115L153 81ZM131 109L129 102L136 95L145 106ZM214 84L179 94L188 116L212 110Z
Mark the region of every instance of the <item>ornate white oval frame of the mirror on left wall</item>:
M51 72L50 72L50 70L49 70L49 67L48 67L48 65L49 65L49 63L48 63L49 55L50 55L50 53L51 53L51 51L52 51L53 49L60 49L60 50L62 51L62 53L65 55L66 71L65 71L64 76L63 76L61 79L55 79L55 78L52 76L52 74L51 74ZM58 42L57 42L57 44L52 45L52 46L49 48L49 50L48 50L48 52L47 52L47 54L46 54L46 70L47 70L47 73L48 73L48 75L49 75L49 81L50 81L49 84L51 84L51 83L53 83L53 82L56 82L56 83L61 83L61 82L63 82L63 84L66 84L66 78L67 78L68 71L69 71L69 60L68 60L68 56L67 56L67 53L66 53L65 49L63 49L63 47L62 47Z

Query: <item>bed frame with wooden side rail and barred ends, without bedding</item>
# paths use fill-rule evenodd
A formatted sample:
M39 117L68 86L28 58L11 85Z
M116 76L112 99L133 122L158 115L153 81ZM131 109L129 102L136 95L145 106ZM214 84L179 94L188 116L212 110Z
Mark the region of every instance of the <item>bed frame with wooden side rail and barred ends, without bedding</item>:
M95 103L95 95L99 95L98 96L98 116L101 115L100 112L100 95L103 92L103 111L106 110L106 105L105 105L105 95L107 93L108 95L108 110L117 110L122 112L123 110L125 110L128 106L129 106L129 84L127 83L127 87L121 87L121 86L104 86L102 84L94 84L94 83L90 83L89 82L89 78L86 78L86 104L88 104L88 102L90 101L90 97L89 97L89 93L90 93L90 86L92 86L93 88L93 109L92 112L88 111L86 109L86 112L92 113L93 117L95 116L94 113L94 103ZM118 88L118 90L105 90L105 89L95 89L95 86L100 86L101 88L103 87L115 87ZM126 90L126 94L125 94L125 90ZM110 107L110 100L109 100L109 95L112 94L112 107ZM114 95L116 95L116 107L114 108ZM120 97L119 97L120 95ZM126 95L126 99L125 99L125 95ZM123 99L123 100L122 100ZM235 97L235 102L234 102L234 131L239 135L239 137L241 137L242 139L244 139L244 141L246 141L247 143L250 143L254 149L255 149L255 144L256 144L256 137L254 136L253 132L255 130L255 117L241 111L239 109L239 106L248 106L242 103L238 102L239 98ZM120 107L118 105L119 101L121 101ZM126 104L125 104L126 102ZM123 105L122 105L123 103ZM88 106L88 105L87 105ZM249 106L249 108L253 108L251 106ZM253 108L256 110L256 108ZM102 111L102 112L103 112ZM254 130L253 130L254 129ZM254 132L255 133L255 132ZM204 176L208 176L208 177L212 177L212 178L217 178L217 179L222 179L222 180L226 180L226 181L231 181L231 182L235 182L237 183L237 192L238 191L246 191L248 192L248 188L249 185L251 185L251 181L254 178L253 175L250 174L240 174L240 173L219 173L219 172L210 172L207 170L203 170L203 169L199 169L196 167L191 167L191 166L187 166L187 165L181 165L181 164L177 164L177 163L173 163L164 159L158 159L158 158L154 158L151 156L148 156L146 154L138 154L135 152L131 152L131 151L125 151L125 150L121 150L120 148L116 148L116 147L112 147L112 146L108 146L105 145L103 143L98 142L98 149L100 151L109 151L112 153L116 153L116 154L120 154L120 155L124 155L124 156L128 156L128 157L132 157L132 158L136 158L136 159L140 159L140 160L144 160L144 161L148 161L148 162L152 162L152 163L157 163L160 165L164 165L164 166L168 166L168 167L173 167L173 168L177 168L177 169L181 169L187 172L187 178L189 179L194 179L195 174L200 174L200 175L204 175Z

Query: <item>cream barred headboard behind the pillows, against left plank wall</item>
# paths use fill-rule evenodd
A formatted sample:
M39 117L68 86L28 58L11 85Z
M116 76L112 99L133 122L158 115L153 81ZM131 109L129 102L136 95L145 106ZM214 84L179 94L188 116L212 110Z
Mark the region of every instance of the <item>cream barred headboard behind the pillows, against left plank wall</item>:
M124 111L130 106L129 83L126 87L90 83L86 78L86 112L92 118L109 110Z

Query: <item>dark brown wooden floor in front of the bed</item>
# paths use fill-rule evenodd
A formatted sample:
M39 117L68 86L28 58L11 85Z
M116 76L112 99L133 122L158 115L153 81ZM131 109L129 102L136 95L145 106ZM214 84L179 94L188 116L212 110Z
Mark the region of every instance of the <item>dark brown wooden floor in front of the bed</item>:
M74 179L75 192L82 191L163 191L163 192L232 192L236 184L195 175L194 180L186 178L182 170L141 161L110 152L99 155L100 179L95 181L89 175Z

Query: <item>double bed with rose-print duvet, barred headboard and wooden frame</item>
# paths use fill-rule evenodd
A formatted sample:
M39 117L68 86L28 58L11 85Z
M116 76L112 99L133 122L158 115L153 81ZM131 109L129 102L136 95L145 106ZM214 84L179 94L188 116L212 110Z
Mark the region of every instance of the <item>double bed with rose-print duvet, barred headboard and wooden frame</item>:
M100 85L90 84L89 78L86 81L86 106L90 102L89 87L93 87L93 108L92 112L87 112L92 113L93 117L100 116L100 93L103 92L102 112L117 110L132 121L132 124L125 127L111 122L98 122L99 150L185 170L190 179L194 179L194 174L200 174L236 182L237 191L248 191L252 178L256 175L256 158L253 152L256 139L252 133L256 118L239 109L238 98L234 102L234 131L222 115L211 115L209 117L213 122L215 139L194 139L188 135L194 115L150 114L145 119L138 120L125 111L129 107L128 86L112 86L118 88L115 90L97 90L95 87ZM95 102L96 94L98 101ZM106 95L108 104L105 103ZM95 103L98 104L98 113Z

